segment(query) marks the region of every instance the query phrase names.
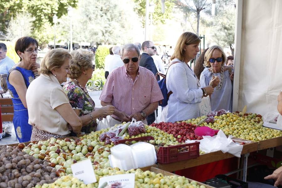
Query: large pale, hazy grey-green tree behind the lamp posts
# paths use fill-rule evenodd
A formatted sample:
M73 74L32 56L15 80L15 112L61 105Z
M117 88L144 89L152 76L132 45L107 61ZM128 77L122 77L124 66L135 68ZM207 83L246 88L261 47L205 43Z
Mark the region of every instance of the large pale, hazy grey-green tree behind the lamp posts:
M138 28L137 15L122 3L130 1L80 0L71 18L63 16L58 20L61 27L58 38L69 39L71 19L73 41L104 44L132 42L134 29Z

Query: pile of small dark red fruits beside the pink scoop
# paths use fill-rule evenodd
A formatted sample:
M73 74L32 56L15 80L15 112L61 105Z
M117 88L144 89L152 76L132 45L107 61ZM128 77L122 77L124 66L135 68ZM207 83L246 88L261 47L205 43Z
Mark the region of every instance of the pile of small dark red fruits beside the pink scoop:
M196 124L180 122L180 123L152 123L150 126L159 128L167 132L168 134L172 134L179 143L185 142L185 140L201 140L203 137L195 135L194 130L199 127Z

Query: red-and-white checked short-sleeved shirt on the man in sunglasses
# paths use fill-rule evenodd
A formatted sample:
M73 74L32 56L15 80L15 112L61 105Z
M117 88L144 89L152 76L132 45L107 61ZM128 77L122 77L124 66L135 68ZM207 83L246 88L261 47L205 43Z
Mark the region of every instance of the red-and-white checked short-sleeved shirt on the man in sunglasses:
M135 112L141 112L150 103L163 99L154 74L141 66L139 66L135 81L124 66L113 70L107 77L100 96L101 101L111 102L119 111L125 112L129 116ZM112 117L120 120L114 114Z

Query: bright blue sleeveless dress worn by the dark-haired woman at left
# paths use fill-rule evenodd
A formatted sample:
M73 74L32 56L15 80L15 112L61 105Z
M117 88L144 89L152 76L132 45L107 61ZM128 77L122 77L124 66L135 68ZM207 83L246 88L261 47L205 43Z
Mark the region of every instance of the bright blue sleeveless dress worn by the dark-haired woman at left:
M7 76L7 86L12 96L12 101L14 106L13 124L15 128L16 136L19 142L28 142L30 141L32 127L28 123L29 120L28 110L24 107L15 88L8 81L10 72L12 70L18 70L22 73L26 87L28 87L29 84L34 80L34 74L31 70L26 70L21 67L13 67L9 71Z

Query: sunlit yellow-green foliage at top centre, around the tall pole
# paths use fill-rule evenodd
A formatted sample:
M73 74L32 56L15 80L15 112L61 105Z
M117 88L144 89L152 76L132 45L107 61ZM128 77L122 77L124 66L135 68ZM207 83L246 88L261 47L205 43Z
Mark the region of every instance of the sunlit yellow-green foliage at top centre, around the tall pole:
M162 5L160 0L151 0L155 4L155 10L153 13L153 22L154 23L165 23L165 19L170 18L172 13L172 8L174 3L171 1L165 1L165 13L162 13ZM134 0L135 8L134 10L138 14L140 21L145 26L145 14L146 14L146 0Z

